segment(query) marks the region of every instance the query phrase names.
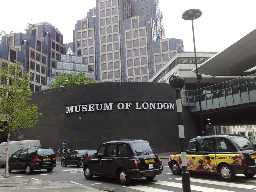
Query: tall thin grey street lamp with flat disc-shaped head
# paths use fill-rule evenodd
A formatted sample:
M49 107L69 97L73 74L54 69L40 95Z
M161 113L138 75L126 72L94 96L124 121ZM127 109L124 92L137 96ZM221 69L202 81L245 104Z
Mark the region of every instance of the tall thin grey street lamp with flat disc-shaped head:
M192 21L192 32L193 32L193 42L194 42L194 53L195 53L195 72L196 72L196 84L198 90L198 101L199 101L199 110L200 110L200 119L201 119L201 129L202 129L202 136L205 135L204 132L204 125L203 125L203 115L202 115L202 106L201 106L201 98L200 98L200 80L202 79L201 75L198 75L198 68L197 68L197 59L196 59L196 51L195 51L195 35L194 35L194 24L193 20L201 17L202 11L200 9L189 9L186 10L182 14L182 19L191 20Z

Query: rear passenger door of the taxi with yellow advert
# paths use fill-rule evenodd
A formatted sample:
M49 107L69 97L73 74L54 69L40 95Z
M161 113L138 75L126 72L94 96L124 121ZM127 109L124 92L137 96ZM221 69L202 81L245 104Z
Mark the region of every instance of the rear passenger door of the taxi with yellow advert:
M196 170L216 172L216 157L212 138L198 140L198 153L196 154Z

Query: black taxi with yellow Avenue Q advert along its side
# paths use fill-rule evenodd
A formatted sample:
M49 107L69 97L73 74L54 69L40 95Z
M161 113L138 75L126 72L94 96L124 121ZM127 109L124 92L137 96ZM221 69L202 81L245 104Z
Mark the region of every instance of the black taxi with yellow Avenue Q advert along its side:
M186 148L188 171L218 173L221 179L232 181L236 174L256 175L256 148L242 135L211 135L196 137ZM180 175L181 154L170 155L168 165Z

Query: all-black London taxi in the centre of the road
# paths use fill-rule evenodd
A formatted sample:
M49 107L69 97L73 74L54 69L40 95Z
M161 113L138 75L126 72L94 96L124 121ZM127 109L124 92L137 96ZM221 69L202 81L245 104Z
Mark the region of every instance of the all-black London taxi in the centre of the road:
M124 139L102 144L91 159L84 161L83 171L85 179L93 175L118 177L121 184L127 185L131 178L155 179L163 166L148 141Z

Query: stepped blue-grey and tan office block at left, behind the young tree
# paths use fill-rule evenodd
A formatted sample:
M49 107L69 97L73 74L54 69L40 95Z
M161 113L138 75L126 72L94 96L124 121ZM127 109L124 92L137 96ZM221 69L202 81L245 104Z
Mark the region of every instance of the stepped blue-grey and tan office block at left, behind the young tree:
M29 24L26 34L7 34L1 42L0 51L5 53L0 56L1 65L7 66L8 60L24 63L23 73L32 75L32 91L40 91L55 69L55 62L64 54L63 35L48 22Z

